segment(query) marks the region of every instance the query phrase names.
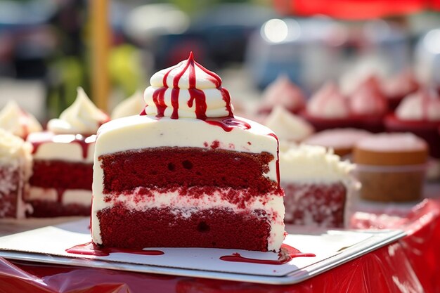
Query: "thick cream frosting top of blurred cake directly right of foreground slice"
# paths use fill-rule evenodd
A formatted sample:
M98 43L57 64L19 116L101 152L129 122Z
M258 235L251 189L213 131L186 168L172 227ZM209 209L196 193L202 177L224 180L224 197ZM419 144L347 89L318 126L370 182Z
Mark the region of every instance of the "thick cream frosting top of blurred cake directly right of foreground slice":
M316 145L298 145L280 151L281 182L347 183L354 165L341 161L331 150Z

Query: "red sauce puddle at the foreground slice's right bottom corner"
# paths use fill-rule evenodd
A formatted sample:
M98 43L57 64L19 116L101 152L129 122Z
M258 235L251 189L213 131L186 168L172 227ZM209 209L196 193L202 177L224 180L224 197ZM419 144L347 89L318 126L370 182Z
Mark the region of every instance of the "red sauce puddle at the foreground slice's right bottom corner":
M222 261L233 261L239 263L261 263L261 264L273 264L273 265L281 265L288 263L295 257L315 257L315 254L311 253L303 253L298 249L291 247L289 245L281 245L280 253L278 254L277 260L272 259L250 259L247 257L241 256L239 253L233 253L232 255L221 256L220 259Z

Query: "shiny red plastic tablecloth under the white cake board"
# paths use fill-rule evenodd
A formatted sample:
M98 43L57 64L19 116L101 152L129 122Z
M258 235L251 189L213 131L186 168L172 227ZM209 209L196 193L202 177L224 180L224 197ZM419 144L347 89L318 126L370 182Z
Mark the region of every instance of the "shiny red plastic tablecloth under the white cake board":
M404 228L398 242L344 263L296 285L130 273L97 268L53 266L0 258L0 293L7 292L440 292L440 200L425 200L405 216L371 214L357 228Z

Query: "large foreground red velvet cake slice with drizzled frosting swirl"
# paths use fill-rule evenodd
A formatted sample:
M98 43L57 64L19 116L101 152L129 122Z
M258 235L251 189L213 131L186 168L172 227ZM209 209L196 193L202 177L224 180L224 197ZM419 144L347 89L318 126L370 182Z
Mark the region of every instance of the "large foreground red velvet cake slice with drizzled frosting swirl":
M91 232L104 247L278 251L278 140L233 117L221 79L192 54L161 70L141 115L98 130Z

